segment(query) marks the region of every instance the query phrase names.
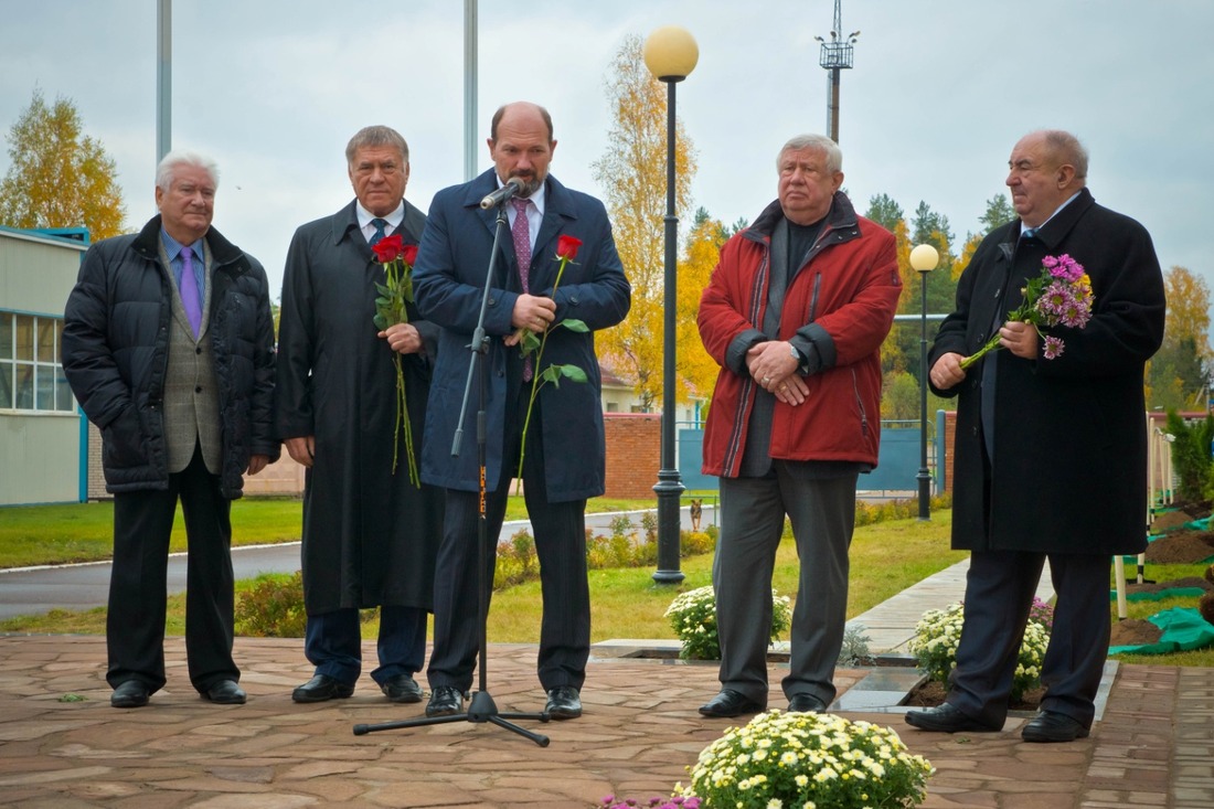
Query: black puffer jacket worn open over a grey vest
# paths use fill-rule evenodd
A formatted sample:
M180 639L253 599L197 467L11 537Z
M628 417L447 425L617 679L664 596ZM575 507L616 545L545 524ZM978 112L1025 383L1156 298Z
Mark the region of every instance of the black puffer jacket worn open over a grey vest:
M165 372L172 288L160 270L160 217L138 234L89 248L63 326L63 370L101 429L106 490L163 490ZM273 437L274 329L266 271L214 227L208 336L223 436L223 496L240 497L251 454L278 458Z

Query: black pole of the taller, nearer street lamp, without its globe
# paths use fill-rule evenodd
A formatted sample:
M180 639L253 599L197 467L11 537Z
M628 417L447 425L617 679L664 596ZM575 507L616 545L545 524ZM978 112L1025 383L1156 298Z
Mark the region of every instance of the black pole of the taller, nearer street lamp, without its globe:
M662 364L662 468L653 491L658 496L658 570L653 581L677 584L683 579L679 570L679 500L683 493L682 479L675 463L675 309L677 306L676 259L679 248L679 217L675 216L675 85L682 77L663 78L666 83L666 216L665 216L665 277L663 306L665 307Z

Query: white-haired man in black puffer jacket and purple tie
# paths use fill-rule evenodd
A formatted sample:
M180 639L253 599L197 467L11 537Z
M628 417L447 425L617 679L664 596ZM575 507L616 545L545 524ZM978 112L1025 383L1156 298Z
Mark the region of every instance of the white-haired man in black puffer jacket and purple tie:
M171 152L160 215L97 242L68 298L63 370L101 429L114 494L106 639L110 705L137 708L165 684L169 538L181 498L189 544L186 652L206 700L243 703L232 660L231 502L278 458L274 329L266 272L211 227L215 164Z

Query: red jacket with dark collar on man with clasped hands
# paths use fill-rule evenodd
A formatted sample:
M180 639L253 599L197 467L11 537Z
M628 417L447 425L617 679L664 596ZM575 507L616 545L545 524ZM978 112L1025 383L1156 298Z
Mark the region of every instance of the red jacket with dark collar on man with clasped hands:
M737 477L747 423L759 386L747 350L770 338L767 306L771 234L783 216L773 202L754 225L721 248L699 301L699 334L721 366L704 431L705 475ZM880 346L894 323L902 282L894 234L857 216L841 192L784 293L779 340L807 356L810 392L793 407L776 402L771 457L852 460L877 466L880 440Z

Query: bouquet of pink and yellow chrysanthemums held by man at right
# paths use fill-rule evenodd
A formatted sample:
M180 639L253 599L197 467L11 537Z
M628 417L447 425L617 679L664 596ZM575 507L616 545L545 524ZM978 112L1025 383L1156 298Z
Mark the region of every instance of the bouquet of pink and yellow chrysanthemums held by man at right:
M1091 319L1091 278L1083 271L1083 265L1070 255L1042 259L1042 275L1029 279L1025 285L1025 302L1008 313L1009 321L1032 323L1037 333L1045 340L1042 353L1046 360L1054 360L1062 353L1062 338L1046 335L1042 328L1051 326L1070 326L1082 329ZM999 349L999 332L987 340L977 353L961 360L961 368L969 368L988 352Z

